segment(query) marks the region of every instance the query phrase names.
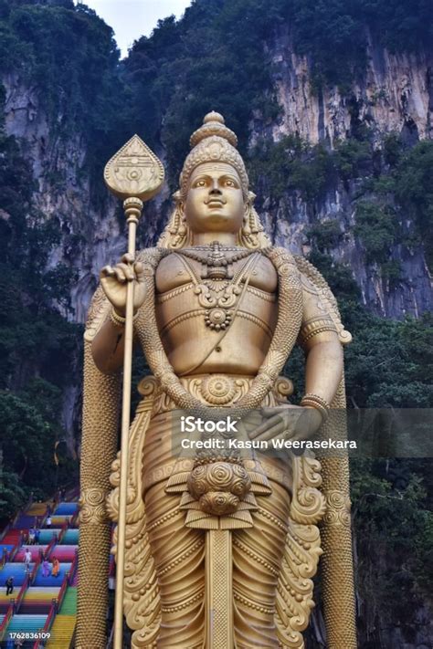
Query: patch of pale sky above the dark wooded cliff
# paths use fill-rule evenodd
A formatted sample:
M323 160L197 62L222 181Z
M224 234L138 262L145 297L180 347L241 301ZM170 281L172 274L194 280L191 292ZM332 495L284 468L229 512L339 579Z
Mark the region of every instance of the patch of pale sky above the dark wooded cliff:
M82 0L114 29L121 56L141 36L150 36L160 18L180 18L191 0ZM76 3L77 4L77 3Z

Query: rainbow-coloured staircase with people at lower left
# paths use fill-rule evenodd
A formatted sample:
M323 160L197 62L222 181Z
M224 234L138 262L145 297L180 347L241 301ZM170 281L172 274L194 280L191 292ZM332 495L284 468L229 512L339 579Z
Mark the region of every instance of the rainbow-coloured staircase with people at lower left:
M49 501L52 508L53 503ZM55 505L51 526L47 527L48 503L32 503L20 512L0 536L0 646L8 646L9 633L49 631L44 646L69 649L75 632L77 613L77 560L79 529L78 502L74 495ZM28 530L40 529L39 544L26 545ZM24 555L31 552L29 571ZM49 574L43 576L41 560L48 559ZM58 576L52 575L52 560L59 562ZM5 581L14 577L14 591L5 595ZM42 647L26 642L28 649Z

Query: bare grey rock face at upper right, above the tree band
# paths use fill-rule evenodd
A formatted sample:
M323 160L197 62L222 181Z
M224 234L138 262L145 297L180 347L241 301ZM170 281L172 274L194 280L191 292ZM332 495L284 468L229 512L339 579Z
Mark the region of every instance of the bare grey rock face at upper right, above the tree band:
M354 119L373 127L379 138L387 132L401 132L409 141L433 136L433 61L426 53L391 54L369 38L364 76L345 94L337 87L314 89L309 60L293 51L286 28L269 54L283 109L271 129L275 140L298 134L333 146L351 134Z

